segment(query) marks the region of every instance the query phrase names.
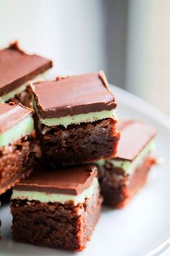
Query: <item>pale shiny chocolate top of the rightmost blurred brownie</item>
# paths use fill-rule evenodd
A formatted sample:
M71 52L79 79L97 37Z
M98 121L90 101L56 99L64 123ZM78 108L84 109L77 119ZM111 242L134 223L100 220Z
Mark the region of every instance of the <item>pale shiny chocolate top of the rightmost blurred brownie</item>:
M156 135L155 129L140 121L121 121L120 142L115 160L133 161Z

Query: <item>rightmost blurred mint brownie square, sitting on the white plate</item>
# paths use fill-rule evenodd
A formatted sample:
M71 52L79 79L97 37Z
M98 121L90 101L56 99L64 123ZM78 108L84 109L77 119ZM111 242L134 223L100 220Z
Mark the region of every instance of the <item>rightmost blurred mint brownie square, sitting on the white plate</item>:
M146 183L148 171L156 159L152 155L155 130L139 121L119 125L121 138L117 157L98 161L99 183L104 204L122 208Z

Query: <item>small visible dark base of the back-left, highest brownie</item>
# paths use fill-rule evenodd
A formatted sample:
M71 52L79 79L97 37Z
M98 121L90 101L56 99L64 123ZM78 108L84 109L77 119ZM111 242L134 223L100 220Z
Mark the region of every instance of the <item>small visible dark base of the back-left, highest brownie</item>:
M6 103L9 103L10 101L16 104L22 103L22 105L26 106L27 108L32 107L32 91L30 86L27 86L27 88L22 93L19 93L13 98L10 98L9 101L6 101Z

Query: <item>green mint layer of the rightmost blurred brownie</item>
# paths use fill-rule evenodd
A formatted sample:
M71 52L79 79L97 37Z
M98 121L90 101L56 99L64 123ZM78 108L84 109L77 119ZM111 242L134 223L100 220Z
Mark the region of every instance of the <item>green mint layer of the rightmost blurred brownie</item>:
M143 148L143 150L139 153L139 155L135 158L133 162L116 160L116 159L107 160L107 161L112 163L113 166L123 169L125 171L125 174L133 174L133 171L135 171L135 168L140 166L141 163L143 163L143 158L145 158L145 156L148 155L148 153L152 151L154 148L155 148L155 143L153 140L151 140L151 142L149 142L148 145L146 145L146 147ZM97 164L99 164L99 166L103 166L104 160L97 161Z

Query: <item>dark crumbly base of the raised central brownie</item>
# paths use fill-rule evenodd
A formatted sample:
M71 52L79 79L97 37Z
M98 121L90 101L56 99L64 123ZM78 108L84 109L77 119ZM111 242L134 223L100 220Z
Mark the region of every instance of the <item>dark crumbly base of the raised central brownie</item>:
M55 166L68 166L91 163L116 154L120 133L117 121L104 119L91 123L45 127L45 135L40 134L42 154L45 163Z

